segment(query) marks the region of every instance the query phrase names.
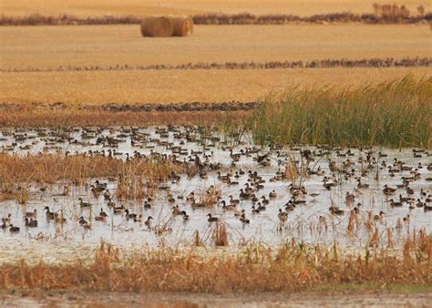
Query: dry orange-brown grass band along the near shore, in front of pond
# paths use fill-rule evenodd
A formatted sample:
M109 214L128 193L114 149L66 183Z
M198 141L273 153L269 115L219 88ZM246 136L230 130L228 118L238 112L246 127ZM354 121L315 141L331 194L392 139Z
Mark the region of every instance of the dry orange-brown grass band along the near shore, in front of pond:
M418 234L417 234L418 236ZM164 249L123 258L102 244L89 266L82 263L0 265L0 289L69 289L117 292L293 292L338 284L427 286L432 239L406 241L403 257L386 250L356 254L291 242L276 251L256 246L238 255L203 257L193 250Z

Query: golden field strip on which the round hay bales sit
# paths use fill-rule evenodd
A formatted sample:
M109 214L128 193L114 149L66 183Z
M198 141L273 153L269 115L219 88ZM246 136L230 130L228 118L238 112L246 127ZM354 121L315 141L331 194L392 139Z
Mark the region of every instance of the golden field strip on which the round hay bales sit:
M429 26L195 26L141 37L139 26L0 27L0 68L430 56Z

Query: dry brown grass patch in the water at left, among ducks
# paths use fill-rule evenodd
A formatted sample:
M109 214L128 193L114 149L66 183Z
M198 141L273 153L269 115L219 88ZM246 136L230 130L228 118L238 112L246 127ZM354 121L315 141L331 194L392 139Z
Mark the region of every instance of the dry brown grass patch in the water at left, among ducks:
M31 182L53 184L68 180L83 185L92 178L112 177L118 180L118 198L143 198L151 194L161 181L168 180L172 172L185 172L187 166L171 160L111 159L100 155L86 156L38 154L26 157L0 154L0 184L2 195L19 200L27 198L26 185Z

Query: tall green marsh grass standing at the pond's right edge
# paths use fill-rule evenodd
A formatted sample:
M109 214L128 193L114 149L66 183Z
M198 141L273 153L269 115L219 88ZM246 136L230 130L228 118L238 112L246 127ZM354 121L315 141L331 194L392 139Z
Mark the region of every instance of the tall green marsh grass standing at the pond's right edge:
M260 144L430 148L431 114L432 78L406 76L354 89L292 87L266 98L251 128Z

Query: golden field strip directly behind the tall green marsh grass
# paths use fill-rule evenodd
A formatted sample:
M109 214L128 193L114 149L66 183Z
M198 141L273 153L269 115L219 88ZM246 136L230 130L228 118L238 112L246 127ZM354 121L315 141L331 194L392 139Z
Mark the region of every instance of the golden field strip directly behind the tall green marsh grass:
M0 101L71 104L255 101L293 85L362 86L430 68L299 68L0 73ZM23 87L23 85L26 85Z

